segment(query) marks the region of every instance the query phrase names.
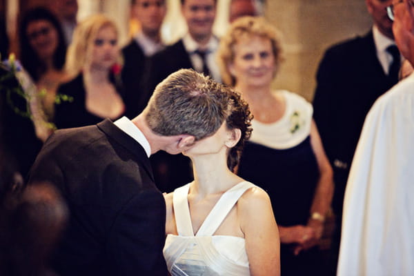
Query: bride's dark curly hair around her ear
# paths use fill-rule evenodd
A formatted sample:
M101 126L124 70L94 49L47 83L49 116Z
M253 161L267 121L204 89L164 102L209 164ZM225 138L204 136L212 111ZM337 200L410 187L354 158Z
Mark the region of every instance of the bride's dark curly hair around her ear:
M233 88L228 87L227 89L231 90L231 92L226 126L229 130L238 128L242 132L237 144L228 151L227 166L234 172L242 156L244 142L250 138L252 133L253 128L251 127L250 121L253 119L253 115L248 108L248 103L242 99L239 92L236 92Z

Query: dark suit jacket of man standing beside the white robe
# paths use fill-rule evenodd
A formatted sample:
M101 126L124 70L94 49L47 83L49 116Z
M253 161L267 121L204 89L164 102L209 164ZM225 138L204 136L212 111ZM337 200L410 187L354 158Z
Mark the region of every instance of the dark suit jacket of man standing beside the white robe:
M377 59L372 32L329 48L319 64L314 117L334 169L333 207L338 215L366 114L395 83Z

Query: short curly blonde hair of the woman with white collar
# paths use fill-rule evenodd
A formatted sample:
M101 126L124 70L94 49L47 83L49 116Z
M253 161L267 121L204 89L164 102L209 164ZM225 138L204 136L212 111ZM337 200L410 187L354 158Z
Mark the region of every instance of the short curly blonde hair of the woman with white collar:
M235 58L234 46L242 39L250 37L262 37L269 39L272 44L275 57L275 74L279 64L283 61L280 34L276 28L270 25L263 17L241 17L235 20L224 37L221 38L217 52L221 78L229 86L235 86L236 79L231 75L228 66Z

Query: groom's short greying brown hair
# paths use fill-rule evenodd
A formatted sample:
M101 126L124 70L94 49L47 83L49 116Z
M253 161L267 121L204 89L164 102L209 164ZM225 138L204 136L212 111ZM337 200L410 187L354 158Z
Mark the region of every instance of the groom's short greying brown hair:
M146 121L163 136L213 135L230 112L233 89L191 69L181 69L161 81L148 102Z

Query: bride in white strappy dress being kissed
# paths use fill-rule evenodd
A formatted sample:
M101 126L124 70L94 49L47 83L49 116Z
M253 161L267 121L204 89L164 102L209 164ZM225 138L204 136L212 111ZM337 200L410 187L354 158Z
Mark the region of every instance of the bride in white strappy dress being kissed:
M171 275L279 275L279 233L267 193L233 173L250 111L228 88L228 114L183 152L194 181L166 195L164 257Z

